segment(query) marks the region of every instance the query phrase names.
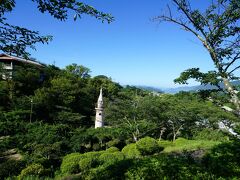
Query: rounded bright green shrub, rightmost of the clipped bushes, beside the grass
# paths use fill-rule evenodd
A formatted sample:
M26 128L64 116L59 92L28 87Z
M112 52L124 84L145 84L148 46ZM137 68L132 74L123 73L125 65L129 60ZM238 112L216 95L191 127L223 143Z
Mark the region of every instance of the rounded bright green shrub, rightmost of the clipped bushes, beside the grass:
M151 155L164 149L163 147L159 146L158 142L155 139L151 137L140 139L136 143L136 147L142 155Z

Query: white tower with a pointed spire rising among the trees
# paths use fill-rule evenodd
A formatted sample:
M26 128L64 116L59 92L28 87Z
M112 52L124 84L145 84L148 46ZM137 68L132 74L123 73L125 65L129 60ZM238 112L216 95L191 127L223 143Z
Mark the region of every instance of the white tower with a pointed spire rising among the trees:
M97 107L95 109L96 109L95 129L96 129L104 126L102 88L100 89Z

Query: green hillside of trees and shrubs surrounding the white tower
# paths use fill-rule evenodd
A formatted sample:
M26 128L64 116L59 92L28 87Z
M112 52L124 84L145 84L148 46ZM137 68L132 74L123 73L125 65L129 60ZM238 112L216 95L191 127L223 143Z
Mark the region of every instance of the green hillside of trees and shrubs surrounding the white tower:
M101 87L106 127L94 129ZM76 64L19 66L0 80L0 179L237 179L239 139L219 129L239 132L226 98L122 87Z

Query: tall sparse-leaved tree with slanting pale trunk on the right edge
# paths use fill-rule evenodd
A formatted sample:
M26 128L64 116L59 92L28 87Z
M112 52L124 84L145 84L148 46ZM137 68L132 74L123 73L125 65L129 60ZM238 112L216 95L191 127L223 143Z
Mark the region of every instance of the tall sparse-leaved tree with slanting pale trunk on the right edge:
M236 111L240 114L240 99L232 81L238 79L240 68L240 1L213 0L204 11L193 9L188 0L172 0L178 15L168 13L155 18L159 22L171 22L192 33L208 51L215 69L202 73L199 68L187 69L175 79L176 83L186 84L190 78L201 84L212 84L229 94ZM225 88L219 83L223 82Z

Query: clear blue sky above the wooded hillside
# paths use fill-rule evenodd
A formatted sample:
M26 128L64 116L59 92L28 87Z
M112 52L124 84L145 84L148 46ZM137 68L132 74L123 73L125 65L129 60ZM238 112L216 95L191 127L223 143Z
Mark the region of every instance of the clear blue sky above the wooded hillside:
M198 40L179 27L150 21L161 14L167 0L88 0L115 21L101 23L83 16L65 22L40 13L31 0L16 0L7 18L10 23L42 35L53 35L48 45L37 45L32 56L61 68L71 63L91 69L92 76L106 75L120 84L174 87L173 79L190 67L203 71L213 63ZM209 0L195 1L201 7ZM200 8L201 8L200 7Z

